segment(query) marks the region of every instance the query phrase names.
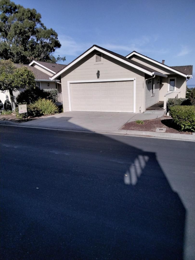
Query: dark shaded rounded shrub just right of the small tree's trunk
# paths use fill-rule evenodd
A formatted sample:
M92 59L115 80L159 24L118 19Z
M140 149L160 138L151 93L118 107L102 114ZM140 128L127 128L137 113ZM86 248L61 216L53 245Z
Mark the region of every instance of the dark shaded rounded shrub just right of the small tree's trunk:
M16 102L18 104L30 104L40 98L47 98L47 96L48 93L46 93L43 89L38 87L28 88L17 95Z

